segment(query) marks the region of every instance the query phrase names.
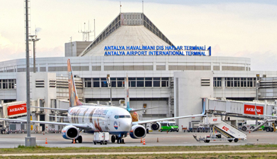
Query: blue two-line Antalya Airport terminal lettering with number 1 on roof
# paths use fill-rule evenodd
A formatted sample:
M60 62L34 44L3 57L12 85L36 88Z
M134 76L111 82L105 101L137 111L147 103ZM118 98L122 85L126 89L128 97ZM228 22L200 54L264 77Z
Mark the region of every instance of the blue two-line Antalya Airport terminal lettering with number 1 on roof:
M211 56L211 46L105 46L105 56Z

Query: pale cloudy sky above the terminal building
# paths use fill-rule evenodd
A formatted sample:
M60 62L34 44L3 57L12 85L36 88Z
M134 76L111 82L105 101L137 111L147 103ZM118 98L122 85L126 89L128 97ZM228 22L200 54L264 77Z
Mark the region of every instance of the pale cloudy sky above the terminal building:
M0 0L0 62L26 57L23 0ZM36 57L64 57L82 41L84 23L96 37L121 12L143 12L175 46L211 46L212 56L249 57L251 71L277 71L277 1L30 0ZM90 40L94 38L91 27ZM33 46L31 46L33 49ZM31 57L33 50L31 49Z

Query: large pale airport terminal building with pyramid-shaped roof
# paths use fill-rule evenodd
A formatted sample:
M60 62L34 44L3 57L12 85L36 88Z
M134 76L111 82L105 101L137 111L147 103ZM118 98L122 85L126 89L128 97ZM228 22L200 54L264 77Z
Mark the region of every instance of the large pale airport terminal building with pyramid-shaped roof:
M159 106L139 112L140 120L201 113L204 98L277 100L277 71L251 71L250 58L215 57L206 46L172 46L143 13L120 13L95 40L66 43L65 57L36 58L35 73L30 59L30 98L66 108L60 100L69 98L71 59L82 102L105 104L111 93L112 104L120 105L128 76L132 108ZM26 59L0 62L0 100L26 100ZM57 120L51 111L36 113L40 120Z

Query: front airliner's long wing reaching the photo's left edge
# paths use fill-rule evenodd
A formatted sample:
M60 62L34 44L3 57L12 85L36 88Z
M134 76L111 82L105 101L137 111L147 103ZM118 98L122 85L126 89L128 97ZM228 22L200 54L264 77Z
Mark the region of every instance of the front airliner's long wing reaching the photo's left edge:
M0 120L6 120L9 122L27 122L27 120L6 119L6 118L0 118ZM73 125L80 129L91 129L91 126L89 126L89 124L73 124L73 123L67 123L67 122L45 122L45 121L37 121L37 120L31 120L30 122L39 123L39 124L56 124L56 125L62 125L62 126Z

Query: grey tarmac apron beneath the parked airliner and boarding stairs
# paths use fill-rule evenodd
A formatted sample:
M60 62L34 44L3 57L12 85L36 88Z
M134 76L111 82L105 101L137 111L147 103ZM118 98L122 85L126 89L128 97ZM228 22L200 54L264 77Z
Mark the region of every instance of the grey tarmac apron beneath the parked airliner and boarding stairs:
M193 138L193 134L197 138L210 135L210 133L184 133L184 132L159 132L152 131L146 135L141 143L141 139L124 138L125 144L117 144L109 142L108 144L93 144L93 134L80 133L82 135L82 143L71 143L71 140L62 138L61 133L31 133L36 138L36 144L44 147L152 147L152 146L211 146L211 145L244 145L244 144L277 144L277 132L255 131L247 133L247 140L238 142L229 141L213 141L209 143L197 142ZM25 145L26 133L10 133L0 134L0 148L15 148L19 145ZM47 143L46 144L46 138Z

